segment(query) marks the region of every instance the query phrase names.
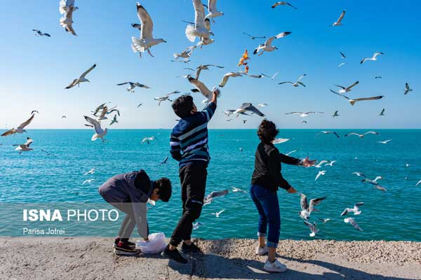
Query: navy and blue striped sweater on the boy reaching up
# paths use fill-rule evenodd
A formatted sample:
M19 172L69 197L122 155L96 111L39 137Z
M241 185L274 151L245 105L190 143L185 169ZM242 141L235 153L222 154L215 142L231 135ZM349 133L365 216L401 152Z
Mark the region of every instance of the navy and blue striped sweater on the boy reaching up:
M208 149L208 122L216 110L210 102L201 112L182 118L173 128L170 137L171 156L180 162L180 167L194 162L210 160Z

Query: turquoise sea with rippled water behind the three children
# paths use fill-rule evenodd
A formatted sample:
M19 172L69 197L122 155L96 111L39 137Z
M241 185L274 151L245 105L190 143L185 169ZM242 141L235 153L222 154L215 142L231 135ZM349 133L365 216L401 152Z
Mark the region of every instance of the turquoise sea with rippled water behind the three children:
M279 144L281 153L298 149L292 156L309 156L316 160L337 160L333 167L302 168L283 165L283 176L307 197L327 196L312 221L318 222L318 239L337 240L412 240L421 241L421 130L377 130L380 135L343 137L347 132L367 130L335 130L340 134L317 135L320 130L281 130L279 137L290 141ZM168 203L150 207L148 219L152 232L171 235L181 213L178 162L168 160L159 165L168 152L170 130L110 130L107 143L91 141L91 130L29 130L15 137L1 137L0 144L0 228L2 235L11 235L7 216L16 215L13 205L69 202L101 203L98 186L110 176L136 169L145 169L152 179L167 176L173 181L173 197ZM144 137L157 137L151 144L140 144ZM12 144L34 139L34 151L14 151ZM377 141L393 139L388 144ZM254 153L258 145L255 130L210 130L210 155L206 193L231 190L232 186L248 190L253 172ZM243 152L240 151L243 148ZM46 155L41 149L53 153ZM407 166L407 164L409 166ZM95 168L95 174L83 176ZM314 181L320 170L326 175ZM363 172L369 179L382 176L387 192L361 183L352 172ZM82 186L86 179L95 179ZM302 222L300 196L279 190L281 207L281 239L312 239ZM364 202L363 211L353 216L363 228L354 230L343 222L340 214L345 207ZM219 218L211 213L225 209ZM13 213L11 213L14 211ZM22 215L22 210L18 216ZM318 218L330 218L323 225ZM226 237L255 238L258 214L248 194L232 193L215 199L203 207L203 226L194 230L194 237L220 239ZM53 225L51 223L51 225ZM9 231L4 229L9 228ZM72 235L114 236L118 224L95 223L88 230ZM13 234L14 235L14 234Z

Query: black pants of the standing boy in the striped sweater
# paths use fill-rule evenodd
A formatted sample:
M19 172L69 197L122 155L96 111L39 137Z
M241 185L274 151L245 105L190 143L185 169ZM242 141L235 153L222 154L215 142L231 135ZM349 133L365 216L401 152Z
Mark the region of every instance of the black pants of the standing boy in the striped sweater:
M200 217L208 176L206 167L206 164L194 163L180 168L182 216L171 236L170 244L173 246L190 239L192 223Z

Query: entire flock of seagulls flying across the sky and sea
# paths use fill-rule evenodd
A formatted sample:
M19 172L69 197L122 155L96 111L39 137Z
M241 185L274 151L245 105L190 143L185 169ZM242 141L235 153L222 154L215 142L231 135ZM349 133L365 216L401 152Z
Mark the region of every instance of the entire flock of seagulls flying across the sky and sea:
M59 12L60 14L62 14L62 18L60 18L60 26L62 26L65 29L65 31L76 36L76 32L74 31L74 28L73 28L73 23L74 23L73 13L75 10L78 9L78 7L74 6L75 5L74 2L75 2L74 0L61 0L59 3ZM187 48L185 48L185 50L182 50L181 52L174 53L173 54L174 59L172 60L173 62L189 63L192 55L194 54L197 48L203 48L203 46L205 45L214 43L215 40L212 37L214 37L215 34L211 30L211 25L215 22L215 18L218 18L224 15L224 13L218 10L216 0L208 0L207 5L203 4L201 0L192 0L192 4L193 4L193 10L194 10L194 22L188 22L188 21L183 20L183 22L186 22L188 24L187 27L185 28L185 36L189 42L194 43L197 40L198 43L196 43L196 45L188 46ZM298 9L297 7L293 6L292 4L286 1L277 1L276 3L272 5L272 8L276 8L279 6L287 6L289 8ZM205 8L207 8L208 10L207 14L205 13ZM147 52L151 57L154 57L154 55L152 55L151 48L156 45L159 45L160 43L166 43L166 41L163 38L154 38L154 35L152 33L154 24L152 22L151 16L149 15L145 7L142 6L140 3L136 3L136 10L137 10L140 23L133 23L132 27L140 31L140 36L139 37L133 36L131 38L131 48L133 52L139 53L140 57L142 57L142 54L144 52ZM338 20L333 22L333 24L330 26L331 27L341 26L342 20L344 20L345 18L345 14L346 14L346 11L343 10L342 13L340 13L340 17L338 18ZM35 36L51 37L50 34L45 33L39 29L32 29L32 31L34 31ZM261 55L265 54L265 52L273 52L275 50L278 50L279 48L276 47L276 45L272 45L272 44L274 44L280 38L286 38L287 36L291 34L291 32L283 31L274 36L269 36L268 38L267 36L250 35L246 32L243 32L243 34L248 36L251 40L265 39L264 43L259 44L253 50L253 55L257 55L257 57L260 57ZM384 53L375 52L372 57L367 57L367 58L362 59L360 64L364 64L368 61L375 62L380 57L380 55L384 55ZM344 52L340 52L340 56L342 57L342 59L347 59L347 56L345 55ZM225 85L227 85L229 80L232 78L248 76L250 78L270 78L274 80L274 78L276 78L276 76L279 74L279 72L276 72L273 75L266 75L265 73L249 74L248 66L246 62L248 59L250 59L250 57L248 57L248 52L246 50L239 63L239 66L245 65L246 70L245 71L229 71L225 73L225 75L222 76L220 83L218 84L219 87L225 87ZM345 66L346 64L347 62L342 62L338 65L338 67ZM93 64L93 66L91 66L89 69L81 73L81 75L78 78L74 78L72 82L69 85L67 85L67 87L65 87L65 89L71 89L73 87L76 87L76 85L77 87L79 87L81 83L89 82L86 76L91 71L93 71L93 69L95 69L96 66L97 64ZM187 79L187 81L192 85L192 87L194 87L191 90L191 92L200 92L203 95L203 97L205 98L202 102L203 104L207 104L210 101L210 99L212 98L212 92L214 92L215 90L218 92L219 95L221 94L220 90L217 87L213 87L212 89L209 89L209 87L207 87L201 80L199 80L201 72L208 71L211 68L224 69L225 66L219 66L215 64L202 64L202 65L197 66L195 69L185 68L186 70L192 71L192 73L178 76L180 78ZM304 73L297 80L282 81L279 83L279 85L290 84L293 87L306 87L305 83L302 82L302 79L305 78L306 76L307 74ZM376 76L375 78L382 78L382 77ZM127 85L128 87L126 88L126 90L131 93L134 93L136 88L140 88L144 90L151 88L142 83L133 82L133 81L126 81L123 83L118 83L117 85L119 86ZM354 106L356 102L373 101L377 99L382 99L384 97L382 95L374 96L374 97L359 97L359 98L350 98L346 96L345 94L349 94L349 92L351 92L356 85L359 85L358 80L349 86L335 85L336 87L338 87L338 90L337 91L330 90L330 92L333 92L333 94L337 94L338 96L346 99L347 102L349 102L349 104L351 104L352 106ZM408 94L412 91L413 89L410 88L410 85L408 83L406 83L403 93ZM173 92L169 92L168 94L165 94L161 97L155 97L154 100L156 100L158 102L158 106L160 106L161 102L166 102L166 101L172 102L170 98L171 96L173 96L173 94L180 94L180 90L174 90ZM114 107L108 106L107 105L108 103L109 102L106 102L97 106L91 112L91 116L83 116L83 118L86 120L85 125L88 127L92 127L94 130L94 134L91 137L92 141L95 141L97 139L101 139L102 141L107 141L105 139L105 135L107 134L108 130L107 130L107 127L102 128L101 122L105 120L109 120L108 116L110 114L114 113L114 116L111 118L109 125L111 126L111 125L114 125L115 123L119 123L118 118L117 118L120 116L119 109L117 109L116 106ZM138 107L140 106L142 106L142 104L138 104ZM260 103L257 106L254 106L253 104L249 102L244 102L237 109L227 109L223 113L225 113L225 116L227 117L226 119L227 121L233 120L232 118L229 118L229 116L232 116L232 115L236 117L239 117L239 116L265 117L265 114L262 113L262 111L260 111L260 109L264 108L265 106L268 106L268 104ZM27 119L24 123L18 125L17 127L13 127L11 130L7 130L3 134L1 134L1 137L7 137L13 134L22 134L24 132L27 132L27 130L25 130L25 127L27 127L30 123L32 123L32 120L34 120L34 116L36 113L38 113L38 111L36 110L32 111L29 119ZM306 112L294 111L294 112L285 113L285 114L296 115L296 116L299 116L300 118L306 118L312 114L322 114L322 113L323 112L319 112L319 111L306 111ZM336 117L339 117L340 114L338 113L338 111L335 111L331 116L333 118L336 118ZM382 109L382 111L378 114L378 116L385 116L385 109ZM62 118L66 118L66 116L62 116ZM242 120L242 121L243 123L246 123L247 120ZM302 123L307 123L307 121L302 120ZM323 130L319 132L319 134L333 134L335 135L335 137L340 138L340 135L334 131ZM356 136L363 139L363 137L365 137L368 134L377 135L378 133L374 131L368 131L363 134L350 132L348 134L345 134L345 137ZM156 139L157 138L154 136L146 137L145 139L142 139L141 143L150 144L151 141L154 141ZM288 140L289 139L275 139L274 144L281 144ZM377 143L388 144L390 141L392 141L392 139L387 139L385 141L377 141ZM27 141L25 142L25 144L14 144L13 146L16 146L15 150L18 151L19 154L21 154L22 152L33 151L32 143L33 143L33 140L30 137L27 137ZM44 150L42 151L47 153L48 155L53 155L51 153L48 153L47 151L44 151ZM243 149L240 148L240 151L243 151ZM286 155L290 155L291 153L294 153L295 151L291 151L290 153L287 153ZM168 161L168 157L165 160L163 160L163 162L161 162L160 165L165 165L167 161ZM333 160L333 161L321 160L320 162L318 162L317 165L314 165L314 168L317 169L317 168L326 167L326 166L333 167L335 162L336 160ZM326 170L319 171L316 174L314 181L317 181L318 179L320 179L321 176L324 176L326 174L326 172L327 172ZM91 169L88 172L86 172L86 174L83 174L83 175L89 175L89 174L94 174L94 173L95 173L95 169ZM387 191L387 189L384 186L381 186L379 183L379 180L382 179L382 176L377 176L375 179L370 180L370 179L367 179L366 175L362 174L361 172L354 172L354 174L356 176L364 177L364 179L362 180L363 183L368 183L377 190L381 190L383 192ZM83 181L82 185L91 183L94 180L95 179L86 179L85 181ZM418 186L420 184L421 184L421 180L418 181L415 186ZM229 193L229 190L214 191L205 197L203 201L203 205L204 206L208 205L212 203L216 197L223 197L227 195L228 193ZM241 190L240 188L233 187L232 193L247 193L247 192L245 190ZM319 229L317 228L316 222L314 223L309 222L309 218L312 212L318 211L315 207L325 199L326 197L314 198L312 200L309 200L309 203L307 203L306 195L304 195L303 193L300 193L301 211L299 212L299 214L300 214L300 217L303 219L305 225L307 225L309 227L309 230L311 231L311 233L309 234L310 237L314 237L319 232ZM353 208L345 208L345 210L342 211L342 214L340 214L340 216L347 216L350 213L354 214L355 216L358 216L359 214L361 214L360 207L362 205L363 205L363 202L357 202L354 204ZM222 209L221 211L217 211L213 213L213 215L218 218L224 211L225 209ZM330 221L330 218L319 218L319 221L325 224L328 221ZM356 230L362 231L362 229L356 223L354 218L345 218L344 222L351 224L354 228L356 228ZM194 223L193 225L194 230L198 229L201 225L203 224L199 222Z

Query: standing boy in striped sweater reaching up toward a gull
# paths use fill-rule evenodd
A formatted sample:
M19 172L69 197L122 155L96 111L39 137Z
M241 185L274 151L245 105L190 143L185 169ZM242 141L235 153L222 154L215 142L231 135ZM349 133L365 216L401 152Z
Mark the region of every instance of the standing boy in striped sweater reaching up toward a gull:
M219 90L213 91L212 100L203 111L198 112L193 98L182 95L173 102L174 113L180 121L171 132L171 155L180 162L180 183L182 216L173 231L170 243L163 251L163 257L180 263L187 263L177 249L182 242L182 253L199 252L192 243L192 223L199 218L205 196L206 176L210 160L208 148L208 122L216 110Z

